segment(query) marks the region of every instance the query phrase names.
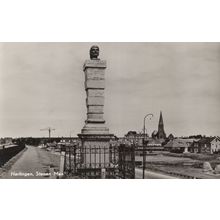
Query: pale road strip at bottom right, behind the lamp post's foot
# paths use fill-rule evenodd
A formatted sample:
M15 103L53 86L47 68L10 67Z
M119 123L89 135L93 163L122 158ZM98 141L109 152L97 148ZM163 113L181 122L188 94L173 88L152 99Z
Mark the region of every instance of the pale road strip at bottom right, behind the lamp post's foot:
M142 179L142 175L143 175L143 170L140 168L135 168L135 179ZM145 170L145 179L177 179L177 178L159 172Z

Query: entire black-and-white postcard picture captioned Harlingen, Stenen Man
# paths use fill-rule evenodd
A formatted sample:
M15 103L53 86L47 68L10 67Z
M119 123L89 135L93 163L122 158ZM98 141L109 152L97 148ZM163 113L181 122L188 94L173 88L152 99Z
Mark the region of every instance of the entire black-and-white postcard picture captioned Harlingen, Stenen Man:
M3 179L219 179L220 43L1 43Z

